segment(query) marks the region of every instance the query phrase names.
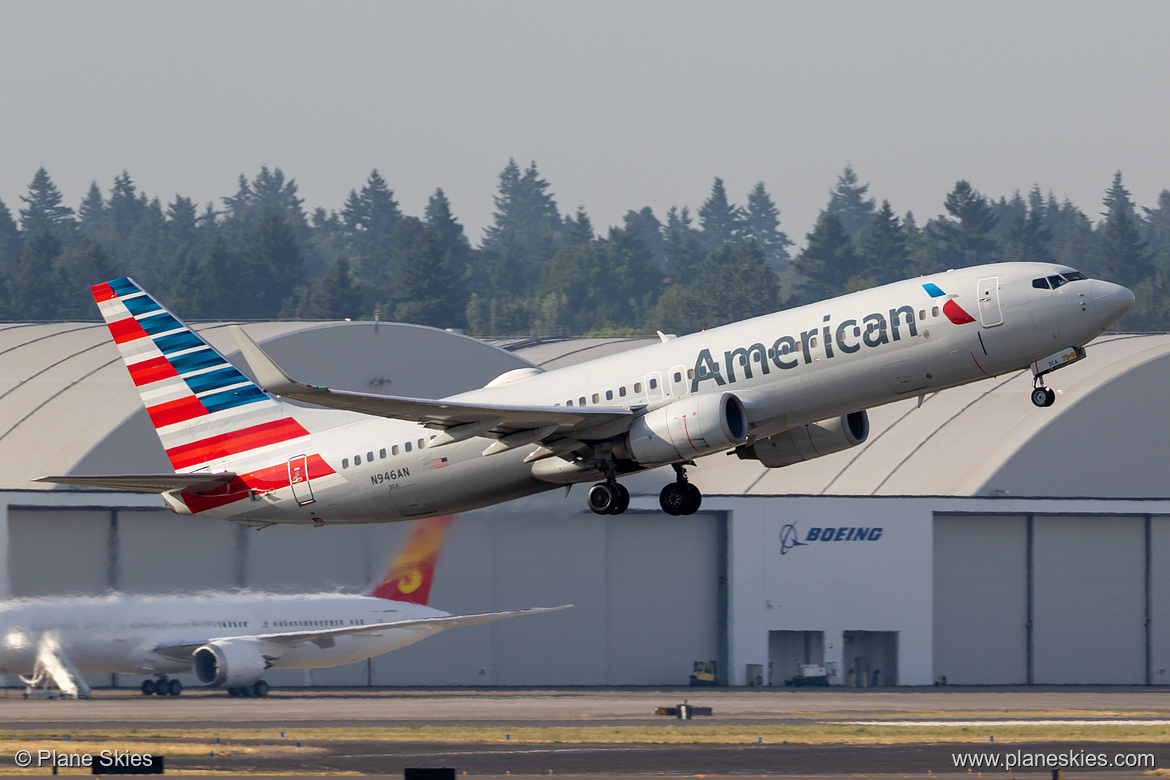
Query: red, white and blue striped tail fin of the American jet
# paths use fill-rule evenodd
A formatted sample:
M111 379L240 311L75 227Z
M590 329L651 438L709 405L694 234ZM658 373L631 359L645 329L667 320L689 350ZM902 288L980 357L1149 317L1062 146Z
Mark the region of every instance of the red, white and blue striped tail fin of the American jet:
M90 290L176 471L226 469L309 432L133 279Z

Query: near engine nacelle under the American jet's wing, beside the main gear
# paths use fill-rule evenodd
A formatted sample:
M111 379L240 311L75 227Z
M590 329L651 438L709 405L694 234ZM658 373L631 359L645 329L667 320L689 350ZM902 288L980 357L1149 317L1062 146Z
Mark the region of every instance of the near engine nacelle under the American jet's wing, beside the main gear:
M642 465L674 463L748 441L748 413L731 393L691 395L634 420L614 454Z

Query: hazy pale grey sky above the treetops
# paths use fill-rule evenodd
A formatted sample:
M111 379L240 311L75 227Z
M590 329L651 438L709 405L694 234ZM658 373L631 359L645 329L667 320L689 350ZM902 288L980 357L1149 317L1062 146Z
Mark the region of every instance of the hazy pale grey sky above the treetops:
M1170 187L1170 2L0 1L0 200L76 208L129 171L164 203L281 167L337 209L378 168L479 241L498 173L562 212L697 209L763 181L804 242L852 163L920 222L957 179L1096 219Z

